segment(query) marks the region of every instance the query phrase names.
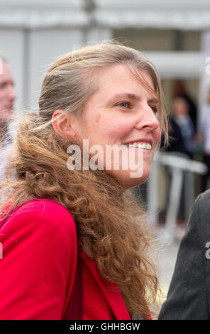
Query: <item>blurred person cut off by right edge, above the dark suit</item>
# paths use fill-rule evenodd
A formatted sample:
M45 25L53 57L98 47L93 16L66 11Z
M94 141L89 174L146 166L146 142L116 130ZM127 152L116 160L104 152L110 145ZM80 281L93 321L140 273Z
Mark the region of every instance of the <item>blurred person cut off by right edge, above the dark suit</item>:
M203 117L201 117L200 123L200 137L199 139L203 141L204 150L204 163L208 166L209 170L202 177L201 192L204 192L208 186L208 181L210 177L210 89L207 93L207 105L204 109Z

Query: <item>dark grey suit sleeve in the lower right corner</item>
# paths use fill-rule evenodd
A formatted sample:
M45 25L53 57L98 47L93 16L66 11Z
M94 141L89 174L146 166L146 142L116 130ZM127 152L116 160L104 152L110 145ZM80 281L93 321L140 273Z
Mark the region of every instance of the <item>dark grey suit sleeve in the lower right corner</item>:
M209 223L210 192L206 191L193 205L159 320L209 319L210 259L206 258Z

